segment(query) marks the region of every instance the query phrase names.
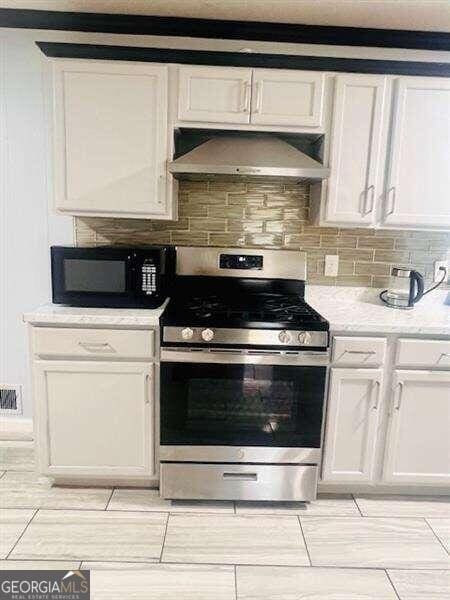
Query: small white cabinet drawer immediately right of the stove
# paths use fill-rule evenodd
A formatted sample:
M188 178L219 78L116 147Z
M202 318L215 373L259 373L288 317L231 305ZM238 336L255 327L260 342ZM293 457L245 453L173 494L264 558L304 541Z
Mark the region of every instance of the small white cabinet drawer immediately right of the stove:
M386 353L385 338L335 337L332 360L338 365L381 365Z

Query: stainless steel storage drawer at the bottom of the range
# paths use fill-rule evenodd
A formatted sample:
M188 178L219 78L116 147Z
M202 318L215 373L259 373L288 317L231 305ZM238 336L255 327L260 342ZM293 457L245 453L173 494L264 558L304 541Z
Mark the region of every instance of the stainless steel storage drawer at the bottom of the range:
M317 467L189 463L161 464L163 498L315 500Z

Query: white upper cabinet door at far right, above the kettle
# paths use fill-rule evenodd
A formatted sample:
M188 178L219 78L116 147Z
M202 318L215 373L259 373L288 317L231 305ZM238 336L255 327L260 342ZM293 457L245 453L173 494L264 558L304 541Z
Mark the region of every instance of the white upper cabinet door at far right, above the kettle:
M450 81L396 82L386 225L450 226Z

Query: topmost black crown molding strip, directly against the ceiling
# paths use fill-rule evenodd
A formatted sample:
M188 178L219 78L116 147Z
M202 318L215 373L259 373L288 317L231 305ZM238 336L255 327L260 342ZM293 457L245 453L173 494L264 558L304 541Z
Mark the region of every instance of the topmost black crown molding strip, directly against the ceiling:
M0 27L450 51L450 33L0 8Z

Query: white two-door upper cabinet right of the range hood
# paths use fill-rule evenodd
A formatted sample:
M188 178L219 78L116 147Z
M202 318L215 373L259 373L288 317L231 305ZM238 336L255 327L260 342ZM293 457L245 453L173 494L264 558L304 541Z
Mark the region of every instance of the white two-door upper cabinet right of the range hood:
M448 229L450 81L363 74L335 81L320 223Z

